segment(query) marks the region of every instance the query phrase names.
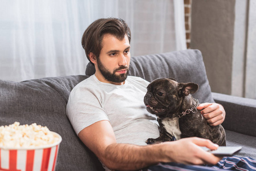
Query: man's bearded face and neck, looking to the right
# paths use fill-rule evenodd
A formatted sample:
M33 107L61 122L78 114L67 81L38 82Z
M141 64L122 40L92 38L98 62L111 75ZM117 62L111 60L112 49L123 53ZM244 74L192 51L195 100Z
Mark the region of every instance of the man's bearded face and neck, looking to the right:
M100 56L96 62L99 70L99 73L96 73L97 78L103 79L100 80L101 82L122 84L129 71L131 59L129 50L130 44L127 36L119 40L113 35L104 35Z

